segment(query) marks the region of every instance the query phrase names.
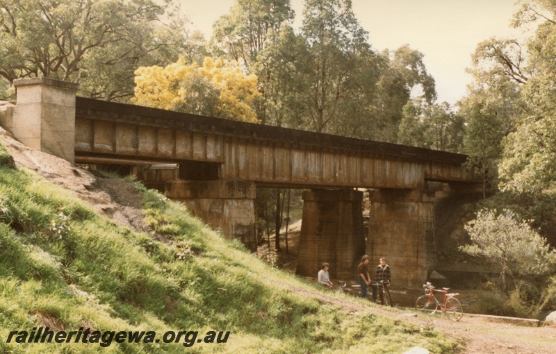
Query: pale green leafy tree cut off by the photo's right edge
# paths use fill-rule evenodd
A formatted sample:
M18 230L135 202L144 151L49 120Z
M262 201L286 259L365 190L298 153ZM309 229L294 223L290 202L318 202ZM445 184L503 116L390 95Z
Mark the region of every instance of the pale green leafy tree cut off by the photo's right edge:
M556 183L556 4L531 1L516 13L516 25L538 24L528 42L530 78L521 93L526 107L505 141L502 188L541 193Z

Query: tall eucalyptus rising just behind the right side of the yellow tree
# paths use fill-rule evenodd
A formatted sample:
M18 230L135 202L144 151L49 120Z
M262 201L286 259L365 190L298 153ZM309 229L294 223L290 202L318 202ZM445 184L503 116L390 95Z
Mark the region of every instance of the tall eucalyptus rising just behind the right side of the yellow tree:
M256 100L262 124L282 125L290 86L284 74L291 70L295 44L289 0L236 0L230 12L213 24L211 49L217 56L243 62L245 71L259 78ZM291 77L291 76L290 76Z

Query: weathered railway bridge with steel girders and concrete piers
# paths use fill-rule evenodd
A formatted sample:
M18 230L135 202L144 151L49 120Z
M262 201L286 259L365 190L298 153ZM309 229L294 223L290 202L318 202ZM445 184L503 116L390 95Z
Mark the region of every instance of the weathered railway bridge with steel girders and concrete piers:
M17 105L2 124L19 141L72 163L177 164L159 187L249 248L256 187L305 189L302 275L329 262L334 275L354 276L361 255L386 255L396 284L422 284L434 269L437 187L466 193L477 183L466 155L85 99L48 78L14 85Z

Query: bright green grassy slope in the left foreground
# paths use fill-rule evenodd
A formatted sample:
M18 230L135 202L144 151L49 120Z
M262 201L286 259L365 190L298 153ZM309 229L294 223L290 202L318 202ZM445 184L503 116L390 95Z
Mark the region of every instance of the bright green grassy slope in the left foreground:
M6 157L0 145L0 160ZM1 164L0 164L1 165ZM312 285L261 262L182 205L138 185L167 242L97 215L70 192L0 166L0 352L183 353L181 344L14 344L10 330L229 330L190 352L450 353L437 332L288 292ZM54 224L56 226L54 226ZM357 300L354 300L357 301Z

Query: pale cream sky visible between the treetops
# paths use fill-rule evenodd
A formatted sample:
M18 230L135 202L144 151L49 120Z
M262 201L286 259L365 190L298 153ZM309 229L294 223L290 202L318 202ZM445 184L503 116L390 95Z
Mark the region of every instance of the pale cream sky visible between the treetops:
M179 0L193 28L209 39L212 24L235 0ZM291 0L294 28L302 22L303 0ZM425 56L423 62L436 81L438 102L454 106L466 95L471 54L490 37L524 38L509 22L519 5L515 0L352 0L355 17L368 31L377 51L404 44Z

